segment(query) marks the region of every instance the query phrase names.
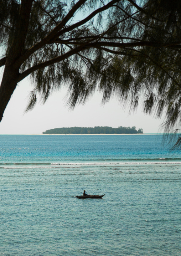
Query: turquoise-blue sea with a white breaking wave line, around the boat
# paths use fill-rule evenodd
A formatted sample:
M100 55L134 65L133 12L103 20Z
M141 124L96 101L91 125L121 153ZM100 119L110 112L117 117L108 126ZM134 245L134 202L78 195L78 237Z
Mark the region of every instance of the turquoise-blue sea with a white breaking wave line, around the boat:
M161 141L0 135L0 255L181 255L181 153Z

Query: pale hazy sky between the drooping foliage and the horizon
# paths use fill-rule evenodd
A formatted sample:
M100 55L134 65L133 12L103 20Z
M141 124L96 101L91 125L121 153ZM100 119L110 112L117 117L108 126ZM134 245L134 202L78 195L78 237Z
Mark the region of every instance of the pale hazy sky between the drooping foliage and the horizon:
M2 71L0 81L1 78ZM32 111L24 113L31 89L28 78L16 87L0 123L0 134L42 134L52 128L74 126L136 126L136 129L143 128L144 133L161 132L159 119L143 114L141 109L129 115L128 109L123 109L116 98L102 105L99 93L95 93L85 105L70 111L63 89L50 96L44 105L36 104Z

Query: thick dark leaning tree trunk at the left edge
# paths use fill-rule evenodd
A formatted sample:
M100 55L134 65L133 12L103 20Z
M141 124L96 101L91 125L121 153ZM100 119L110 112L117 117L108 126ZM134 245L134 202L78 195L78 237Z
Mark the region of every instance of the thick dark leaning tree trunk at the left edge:
M19 22L16 28L14 40L12 41L12 45L7 54L4 74L0 87L0 122L7 103L9 102L11 95L16 88L18 77L20 75L19 69L22 63L19 62L18 59L24 50L32 2L33 0L21 0Z

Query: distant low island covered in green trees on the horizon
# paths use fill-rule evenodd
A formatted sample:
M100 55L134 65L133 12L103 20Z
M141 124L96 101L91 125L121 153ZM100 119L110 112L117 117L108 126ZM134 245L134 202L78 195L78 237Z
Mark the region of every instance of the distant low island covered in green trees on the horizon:
M136 127L123 127L113 128L109 126L95 126L95 127L62 127L46 130L43 134L138 134L143 133L143 129Z

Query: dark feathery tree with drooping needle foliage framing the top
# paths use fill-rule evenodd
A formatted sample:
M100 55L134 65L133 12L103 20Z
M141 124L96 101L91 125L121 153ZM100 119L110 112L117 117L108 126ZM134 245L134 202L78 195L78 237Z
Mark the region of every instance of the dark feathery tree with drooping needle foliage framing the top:
M0 0L0 121L17 83L39 94L67 86L69 106L96 89L145 113L181 121L181 2L177 0ZM125 105L124 105L125 106ZM178 128L178 127L177 127Z

